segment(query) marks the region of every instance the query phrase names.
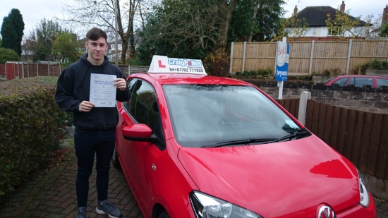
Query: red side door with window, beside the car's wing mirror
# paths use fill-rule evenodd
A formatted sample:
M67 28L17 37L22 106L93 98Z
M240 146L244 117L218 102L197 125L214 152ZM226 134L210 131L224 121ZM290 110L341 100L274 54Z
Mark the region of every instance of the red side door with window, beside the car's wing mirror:
M150 83L140 79L136 81L131 99L126 105L126 110L122 112L122 117L121 128L135 123L144 123L154 130L154 126L158 122L160 123L156 93ZM163 136L160 137L163 138ZM150 174L152 174L152 164L154 163L152 154L161 149L152 143L125 139L122 142L120 155L124 165L123 170L128 174L128 181L131 183L133 194L138 200L139 206L147 213L152 210L149 208Z

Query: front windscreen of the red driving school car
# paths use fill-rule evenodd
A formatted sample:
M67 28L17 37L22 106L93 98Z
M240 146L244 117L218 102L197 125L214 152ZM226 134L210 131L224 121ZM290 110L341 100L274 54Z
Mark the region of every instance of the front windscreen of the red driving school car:
M176 141L184 147L248 145L301 131L252 86L163 85L163 90Z

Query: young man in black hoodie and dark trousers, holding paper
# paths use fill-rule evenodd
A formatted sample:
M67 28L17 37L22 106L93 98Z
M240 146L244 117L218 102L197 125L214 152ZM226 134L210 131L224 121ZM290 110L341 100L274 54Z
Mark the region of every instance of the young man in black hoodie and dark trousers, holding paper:
M55 101L63 111L73 112L75 126L74 145L78 159L76 190L78 218L86 218L89 176L92 174L96 156L97 208L98 214L121 217L120 210L108 201L110 161L116 140L116 125L119 114L116 107L95 107L90 102L91 74L116 75L116 100L128 100L128 88L123 73L109 63L105 52L108 49L107 34L92 28L86 34L88 52L80 60L66 67L58 78Z

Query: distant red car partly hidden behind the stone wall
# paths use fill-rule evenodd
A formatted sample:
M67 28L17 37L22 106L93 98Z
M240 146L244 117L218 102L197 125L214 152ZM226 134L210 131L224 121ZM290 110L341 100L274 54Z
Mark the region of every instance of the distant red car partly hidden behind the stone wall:
M329 78L323 85L338 84L339 86L354 85L355 87L363 87L370 85L372 88L380 88L380 86L388 86L388 78L378 75L339 75Z

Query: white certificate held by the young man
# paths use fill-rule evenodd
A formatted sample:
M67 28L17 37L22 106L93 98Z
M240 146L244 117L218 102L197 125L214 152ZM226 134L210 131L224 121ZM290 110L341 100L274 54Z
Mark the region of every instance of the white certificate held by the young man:
M116 75L90 75L90 99L95 107L116 107L116 86L113 85Z

